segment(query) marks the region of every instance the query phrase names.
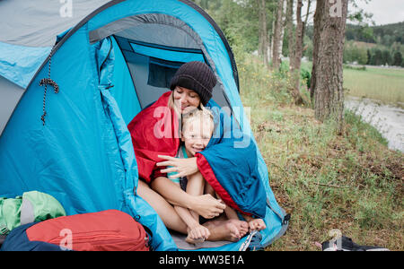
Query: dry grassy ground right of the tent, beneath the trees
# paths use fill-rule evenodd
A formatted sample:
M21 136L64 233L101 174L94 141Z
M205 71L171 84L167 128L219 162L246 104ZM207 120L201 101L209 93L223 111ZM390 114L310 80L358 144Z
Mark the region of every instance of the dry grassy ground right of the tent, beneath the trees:
M388 150L382 135L350 112L338 135L335 123L292 104L287 75L247 59L238 61L242 102L251 108L269 184L292 215L267 250L318 250L314 242L329 239L332 229L359 244L404 250L404 154Z

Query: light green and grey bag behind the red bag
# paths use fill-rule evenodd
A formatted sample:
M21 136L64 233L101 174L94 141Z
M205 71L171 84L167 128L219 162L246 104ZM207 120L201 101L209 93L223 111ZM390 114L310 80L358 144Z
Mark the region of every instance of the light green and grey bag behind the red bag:
M33 221L66 216L65 209L52 195L37 191L25 192L15 198L0 198L0 235Z

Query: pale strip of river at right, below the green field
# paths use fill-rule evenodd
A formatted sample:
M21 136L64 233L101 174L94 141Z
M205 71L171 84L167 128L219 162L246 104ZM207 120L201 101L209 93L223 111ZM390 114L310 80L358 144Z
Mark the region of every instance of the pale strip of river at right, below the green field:
M377 100L348 96L345 107L362 116L389 142L389 148L404 152L404 104L385 105Z

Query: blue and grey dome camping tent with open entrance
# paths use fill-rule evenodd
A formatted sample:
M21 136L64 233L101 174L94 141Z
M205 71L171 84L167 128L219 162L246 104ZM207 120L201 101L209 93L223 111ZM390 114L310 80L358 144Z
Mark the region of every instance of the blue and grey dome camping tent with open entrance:
M127 124L197 60L215 72L213 100L251 134L233 53L213 19L189 0L2 0L0 18L0 196L38 190L67 214L118 209L153 231L154 249L181 249L136 195ZM268 246L287 218L257 151ZM208 249L238 250L246 239Z

